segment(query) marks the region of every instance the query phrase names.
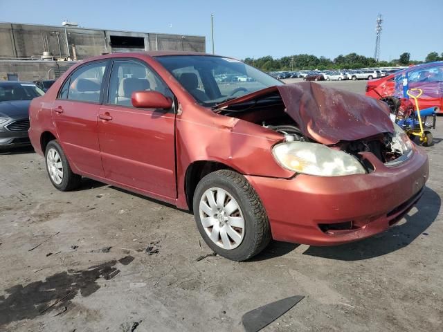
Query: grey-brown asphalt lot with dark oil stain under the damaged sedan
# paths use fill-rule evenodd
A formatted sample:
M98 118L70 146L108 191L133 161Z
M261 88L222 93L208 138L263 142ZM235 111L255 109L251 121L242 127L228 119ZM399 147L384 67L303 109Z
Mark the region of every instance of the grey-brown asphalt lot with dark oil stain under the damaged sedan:
M199 260L187 212L88 179L57 192L32 149L1 153L0 331L243 331L244 313L291 295L305 299L263 331L443 331L443 118L434 137L424 197L387 232L273 242L244 263Z

